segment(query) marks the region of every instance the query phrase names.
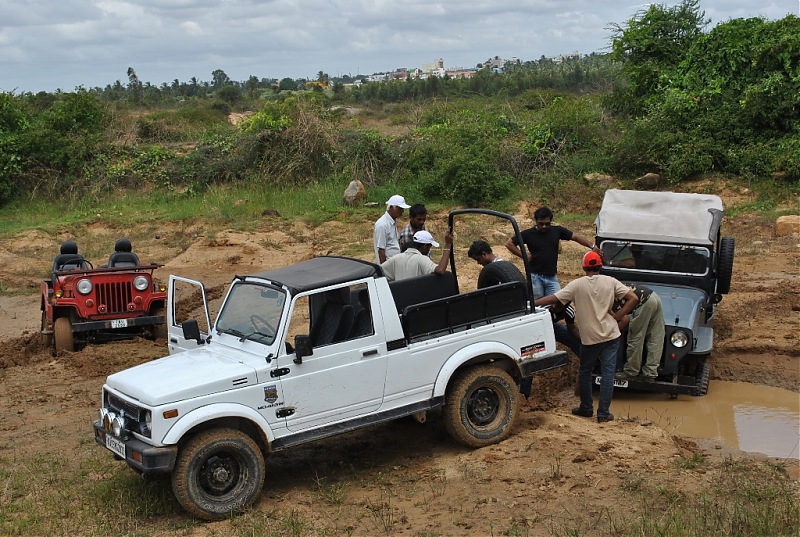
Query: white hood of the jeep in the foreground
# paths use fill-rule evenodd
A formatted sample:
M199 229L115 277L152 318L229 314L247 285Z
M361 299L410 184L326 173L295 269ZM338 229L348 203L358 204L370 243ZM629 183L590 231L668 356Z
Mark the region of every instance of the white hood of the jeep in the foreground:
M256 382L255 368L207 348L159 358L106 379L109 388L148 406L224 392Z

